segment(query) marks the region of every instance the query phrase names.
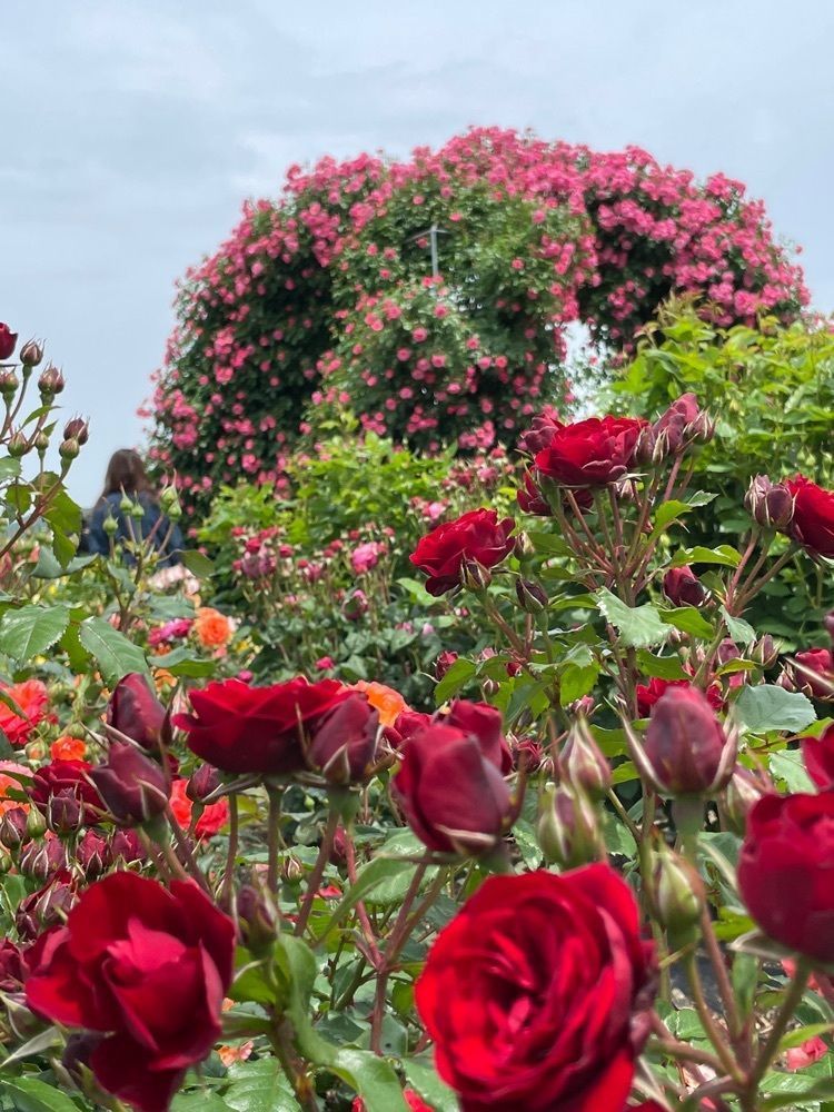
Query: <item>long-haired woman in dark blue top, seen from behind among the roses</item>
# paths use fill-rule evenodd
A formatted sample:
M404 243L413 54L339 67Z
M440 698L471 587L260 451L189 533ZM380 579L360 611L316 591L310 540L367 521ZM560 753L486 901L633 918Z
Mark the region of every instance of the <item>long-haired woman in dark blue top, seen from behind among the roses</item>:
M141 507L141 517L122 509L126 496ZM111 527L105 528L108 519L116 522L115 530ZM88 547L91 553L109 556L111 542L120 545L126 540L150 540L159 553L162 567L180 563L182 534L179 526L171 523L160 509L141 456L131 448L120 448L110 457L105 489L92 510ZM126 553L126 557L132 563L129 553Z

